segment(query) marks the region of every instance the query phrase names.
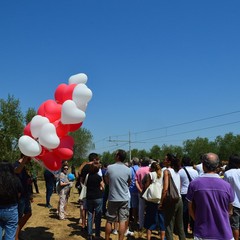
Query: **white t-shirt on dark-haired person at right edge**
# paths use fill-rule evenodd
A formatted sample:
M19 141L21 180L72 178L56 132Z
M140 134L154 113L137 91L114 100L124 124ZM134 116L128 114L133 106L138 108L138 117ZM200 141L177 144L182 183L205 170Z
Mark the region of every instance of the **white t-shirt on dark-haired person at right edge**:
M234 191L233 206L240 208L240 169L230 169L224 173L224 180L229 182Z

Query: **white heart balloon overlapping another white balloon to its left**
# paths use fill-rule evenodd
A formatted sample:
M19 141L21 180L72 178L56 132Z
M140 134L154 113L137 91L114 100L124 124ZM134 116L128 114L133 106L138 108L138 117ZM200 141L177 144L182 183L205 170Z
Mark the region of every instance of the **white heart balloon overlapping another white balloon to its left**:
M42 126L39 133L39 143L48 149L55 149L59 146L60 139L52 123L46 123Z

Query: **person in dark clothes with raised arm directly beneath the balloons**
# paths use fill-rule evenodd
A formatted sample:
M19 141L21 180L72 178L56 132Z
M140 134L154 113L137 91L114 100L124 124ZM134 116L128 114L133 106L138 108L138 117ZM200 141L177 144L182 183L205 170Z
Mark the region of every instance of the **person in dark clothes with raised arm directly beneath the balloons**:
M19 177L23 191L18 202L18 228L15 239L19 239L19 234L22 228L25 226L29 218L32 216L31 202L32 197L32 180L31 176L26 170L26 165L31 161L31 157L21 154L21 158L14 164L14 172Z

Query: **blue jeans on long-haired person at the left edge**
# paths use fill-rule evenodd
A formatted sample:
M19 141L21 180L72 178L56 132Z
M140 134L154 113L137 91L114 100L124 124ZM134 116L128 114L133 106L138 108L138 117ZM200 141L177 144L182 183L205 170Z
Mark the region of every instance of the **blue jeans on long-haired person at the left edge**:
M18 226L18 205L0 206L0 239L3 229L5 230L4 240L14 240Z

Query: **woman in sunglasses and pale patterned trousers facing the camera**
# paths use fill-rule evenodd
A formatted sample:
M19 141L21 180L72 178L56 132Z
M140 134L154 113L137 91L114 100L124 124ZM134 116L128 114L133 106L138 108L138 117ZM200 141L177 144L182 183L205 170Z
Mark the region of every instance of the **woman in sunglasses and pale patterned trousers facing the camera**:
M70 193L71 183L68 180L68 165L62 166L62 171L59 177L59 220L65 220L66 206L68 202L68 197Z

